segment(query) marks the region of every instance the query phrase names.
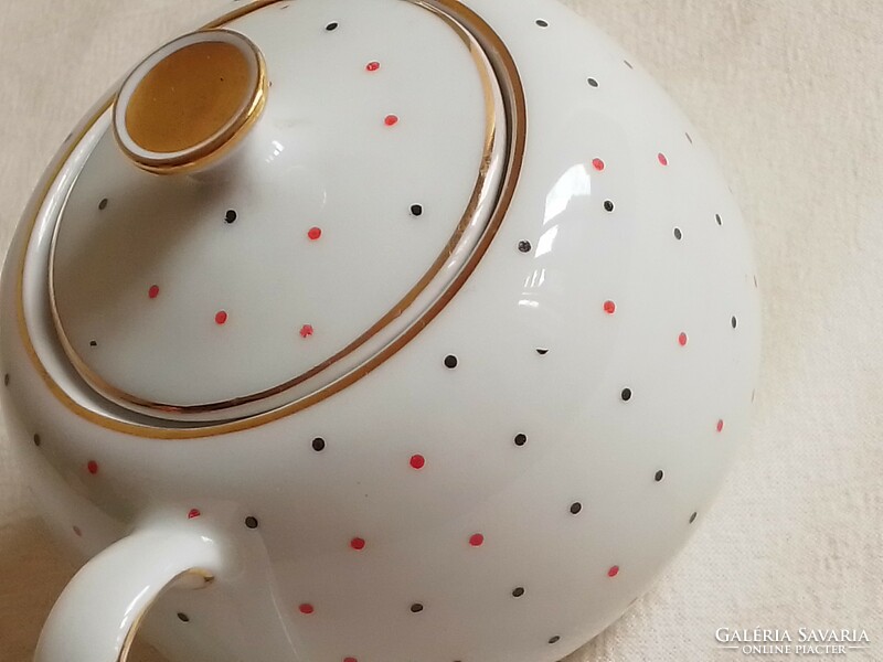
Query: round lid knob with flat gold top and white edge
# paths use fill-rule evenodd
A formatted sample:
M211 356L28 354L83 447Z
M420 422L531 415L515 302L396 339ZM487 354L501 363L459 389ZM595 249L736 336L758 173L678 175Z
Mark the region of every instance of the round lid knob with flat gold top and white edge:
M114 132L143 170L194 172L238 143L266 96L266 64L251 40L228 30L194 32L129 74L114 105Z

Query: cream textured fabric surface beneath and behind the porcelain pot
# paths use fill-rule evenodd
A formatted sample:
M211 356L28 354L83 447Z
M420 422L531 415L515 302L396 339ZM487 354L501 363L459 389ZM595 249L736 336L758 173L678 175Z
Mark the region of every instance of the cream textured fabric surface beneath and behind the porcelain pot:
M2 253L92 103L219 4L3 0ZM883 660L883 2L567 4L620 40L716 151L754 231L765 313L754 433L715 508L656 587L568 662L742 659L714 632L758 626L864 628L871 648L849 659ZM24 662L75 568L44 534L4 434L0 662ZM131 660L160 662L146 645Z

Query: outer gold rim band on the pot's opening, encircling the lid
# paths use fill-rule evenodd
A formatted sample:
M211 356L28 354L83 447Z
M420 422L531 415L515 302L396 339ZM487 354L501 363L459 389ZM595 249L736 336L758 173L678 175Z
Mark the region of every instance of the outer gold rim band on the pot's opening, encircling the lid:
M237 8L236 10L220 17L203 28L203 30L215 29L228 23L237 18L246 15L253 11L264 7L285 2L291 0L257 0L248 6ZM34 366L39 371L43 381L50 391L74 414L99 425L107 429L113 429L119 433L125 433L135 437L151 438L151 439L198 439L224 435L230 433L242 431L266 425L270 421L278 420L290 416L297 412L306 409L336 393L354 384L377 366L383 364L390 357L395 355L402 348L408 344L450 302L454 296L462 288L465 282L475 271L481 258L490 247L491 242L497 235L500 226L502 225L509 206L512 202L515 188L521 174L522 163L524 159L524 146L526 142L526 103L524 98L524 89L521 83L518 68L511 53L499 35L488 25L478 14L472 10L462 6L458 0L407 0L436 12L439 15L447 15L448 19L455 23L466 28L466 30L476 38L485 54L488 56L491 66L497 75L503 97L504 113L508 122L507 135L507 168L503 173L503 180L500 186L497 205L491 214L488 227L485 234L479 239L472 254L460 269L457 277L449 284L448 288L443 295L424 312L424 314L416 320L404 333L402 333L394 342L386 345L383 350L377 352L369 361L359 366L343 377L329 384L328 386L316 391L307 397L281 406L277 409L257 414L247 418L233 420L228 423L196 426L196 427L151 427L148 425L138 425L127 421L121 421L93 412L74 401L61 386L53 380L52 375L40 361L36 351L31 342L29 335L25 318L24 318L24 299L23 299L23 279L24 279L24 258L26 255L28 246L30 245L31 235L33 233L36 218L43 207L49 191L57 180L58 173L64 168L70 159L76 145L92 130L100 117L110 108L113 98L108 99L106 104L96 113L94 117L86 124L78 136L71 140L65 153L61 156L56 164L56 170L49 179L44 190L41 192L42 200L40 204L34 205L35 211L30 218L29 239L24 243L23 254L20 258L19 281L18 281L18 322L19 331L25 350L31 357ZM459 239L459 235L455 235L451 241ZM456 244L456 242L455 242ZM365 339L366 340L366 339ZM358 341L357 341L358 342ZM364 341L362 341L364 342Z

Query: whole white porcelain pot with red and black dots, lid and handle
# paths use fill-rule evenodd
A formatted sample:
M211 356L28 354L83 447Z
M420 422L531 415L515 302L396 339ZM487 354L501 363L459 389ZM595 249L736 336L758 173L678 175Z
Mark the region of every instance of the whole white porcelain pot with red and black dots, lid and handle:
M702 521L757 279L647 73L552 0L255 0L84 119L2 403L84 559L38 662L552 662Z

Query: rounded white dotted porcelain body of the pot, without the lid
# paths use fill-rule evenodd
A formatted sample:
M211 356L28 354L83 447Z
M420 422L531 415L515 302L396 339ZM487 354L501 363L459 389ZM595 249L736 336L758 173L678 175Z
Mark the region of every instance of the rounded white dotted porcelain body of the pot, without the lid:
M298 3L319 7L278 4ZM344 24L355 6L366 3L329 0L317 11ZM0 286L11 438L50 526L84 559L125 536L140 536L121 543L132 549L145 541L143 552L115 557L141 559L127 566L131 586L120 588L99 557L86 570L102 578L83 580L84 599L139 581L158 590L182 568L212 566L205 590L172 589L149 612L146 634L174 662L561 659L682 547L747 434L757 286L746 228L709 150L648 75L567 9L469 6L510 49L525 88L511 207L442 313L329 398L257 427L174 440L75 413L61 392L81 389L76 375L44 352L51 388L24 338L38 353L55 342L41 293L45 212L65 199L88 140L70 159L63 150L49 195L41 184L25 213ZM256 528L244 525L249 516ZM143 559L173 557L162 541L179 535L193 536L192 554L149 576ZM113 604L79 609L113 616Z

